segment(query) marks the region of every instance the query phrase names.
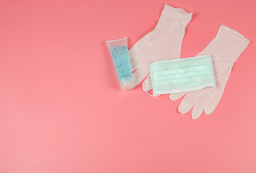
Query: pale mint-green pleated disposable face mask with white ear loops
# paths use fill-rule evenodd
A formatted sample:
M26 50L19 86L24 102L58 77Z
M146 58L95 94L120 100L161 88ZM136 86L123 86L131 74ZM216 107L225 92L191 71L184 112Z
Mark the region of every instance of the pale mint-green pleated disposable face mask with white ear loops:
M150 63L150 76L153 86L151 96L216 86L210 55ZM144 84L143 89L147 92Z

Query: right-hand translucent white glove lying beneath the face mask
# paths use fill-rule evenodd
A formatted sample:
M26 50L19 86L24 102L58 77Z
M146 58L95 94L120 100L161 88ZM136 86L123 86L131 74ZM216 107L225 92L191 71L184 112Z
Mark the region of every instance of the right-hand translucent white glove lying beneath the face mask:
M209 43L209 45L202 50L198 56L211 55L212 58L221 57L229 60L231 67L236 62L237 58L242 54L249 40L235 30L221 25L219 27L216 37ZM176 100L184 96L184 99L179 105L179 112L185 114L192 109L192 119L197 119L202 115L202 112L210 115L216 109L218 102L220 102L226 84L229 80L230 74L219 78L229 70L229 63L222 59L213 60L213 70L215 73L216 87L208 87L197 91L186 93L170 94L171 100Z

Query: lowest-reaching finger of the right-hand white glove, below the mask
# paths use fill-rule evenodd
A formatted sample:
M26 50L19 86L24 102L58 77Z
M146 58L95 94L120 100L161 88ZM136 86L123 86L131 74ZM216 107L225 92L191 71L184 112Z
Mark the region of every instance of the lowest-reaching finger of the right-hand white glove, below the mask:
M205 105L207 104L208 100L210 99L210 94L202 94L197 99L195 106L193 107L191 117L193 120L197 119L202 115L203 110L205 109Z

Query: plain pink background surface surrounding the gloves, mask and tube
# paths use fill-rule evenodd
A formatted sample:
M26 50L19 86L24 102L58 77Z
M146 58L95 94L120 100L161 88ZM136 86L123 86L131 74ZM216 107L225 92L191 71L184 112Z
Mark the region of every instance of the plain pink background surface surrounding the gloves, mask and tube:
M221 102L192 120L167 95L119 89L105 40L129 48L167 3L193 12L182 57L223 24L251 40ZM256 1L0 2L0 172L256 172Z

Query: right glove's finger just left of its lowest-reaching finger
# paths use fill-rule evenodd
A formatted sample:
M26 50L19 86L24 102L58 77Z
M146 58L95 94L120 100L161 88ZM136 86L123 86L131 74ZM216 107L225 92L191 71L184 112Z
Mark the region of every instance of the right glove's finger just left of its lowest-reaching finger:
M179 104L179 112L185 114L191 110L197 99L200 97L200 92L188 92L182 102Z

